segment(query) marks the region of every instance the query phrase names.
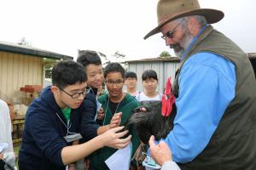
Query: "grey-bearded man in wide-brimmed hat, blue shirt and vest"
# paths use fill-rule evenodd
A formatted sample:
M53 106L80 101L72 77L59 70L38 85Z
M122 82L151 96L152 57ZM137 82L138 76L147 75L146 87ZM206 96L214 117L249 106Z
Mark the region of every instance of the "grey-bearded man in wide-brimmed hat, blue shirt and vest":
M197 0L160 0L158 26L181 59L177 115L165 142L182 169L256 169L256 81L246 54L210 24L224 13Z

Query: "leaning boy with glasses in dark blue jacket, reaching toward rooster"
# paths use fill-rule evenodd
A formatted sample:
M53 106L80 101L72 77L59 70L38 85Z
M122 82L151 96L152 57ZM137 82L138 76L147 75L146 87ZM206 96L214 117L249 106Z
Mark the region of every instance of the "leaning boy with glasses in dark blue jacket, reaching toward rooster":
M53 85L44 88L26 112L20 170L64 170L103 146L122 148L129 143L131 136L119 139L127 132L116 133L122 129L116 127L87 143L71 145L82 138L79 121L84 114L86 79L84 67L74 61L60 61L54 66Z

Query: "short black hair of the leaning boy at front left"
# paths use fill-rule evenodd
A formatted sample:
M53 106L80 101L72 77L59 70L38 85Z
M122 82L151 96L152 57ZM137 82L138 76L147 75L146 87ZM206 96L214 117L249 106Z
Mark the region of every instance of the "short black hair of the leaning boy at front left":
M73 85L77 82L86 82L87 77L83 65L73 60L58 61L53 67L52 84L60 88Z

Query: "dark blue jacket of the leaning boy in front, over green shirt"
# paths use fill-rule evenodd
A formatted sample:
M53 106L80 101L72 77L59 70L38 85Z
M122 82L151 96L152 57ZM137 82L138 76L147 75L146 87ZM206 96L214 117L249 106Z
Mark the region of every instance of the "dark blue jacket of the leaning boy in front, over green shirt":
M84 112L84 104L72 110L69 129L71 133L79 133L80 114ZM50 88L44 88L41 96L33 100L26 112L25 129L19 153L20 170L65 169L61 159L61 150L70 145L64 136L67 127L61 122L67 121L56 104Z

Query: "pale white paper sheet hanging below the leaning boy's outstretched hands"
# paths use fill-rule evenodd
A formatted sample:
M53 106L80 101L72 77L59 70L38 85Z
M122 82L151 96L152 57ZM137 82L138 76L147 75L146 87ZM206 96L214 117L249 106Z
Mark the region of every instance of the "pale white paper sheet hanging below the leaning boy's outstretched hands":
M105 163L110 170L129 170L131 161L132 144L128 144L125 148L116 150L112 156L108 157Z

